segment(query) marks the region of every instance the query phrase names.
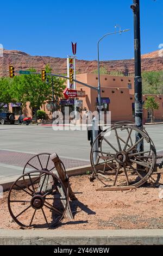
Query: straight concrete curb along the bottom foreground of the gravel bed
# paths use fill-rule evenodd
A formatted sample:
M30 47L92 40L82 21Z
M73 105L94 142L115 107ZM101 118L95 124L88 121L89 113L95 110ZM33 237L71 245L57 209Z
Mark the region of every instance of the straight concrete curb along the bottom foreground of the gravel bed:
M162 245L163 229L5 230L0 245Z

